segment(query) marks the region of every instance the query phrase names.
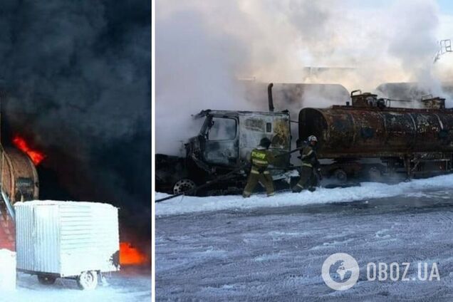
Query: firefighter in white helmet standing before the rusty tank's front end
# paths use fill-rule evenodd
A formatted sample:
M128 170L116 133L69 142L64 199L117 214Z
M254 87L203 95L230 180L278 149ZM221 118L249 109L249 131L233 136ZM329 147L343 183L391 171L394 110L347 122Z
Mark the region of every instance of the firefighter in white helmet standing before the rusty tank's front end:
M321 171L318 157L316 156L317 142L318 139L316 136L310 135L308 137L308 142L306 142L306 146L301 149L301 178L296 186L293 187L293 192L295 193L301 192L303 189L308 189L312 192L316 189L316 185L318 184L318 175Z

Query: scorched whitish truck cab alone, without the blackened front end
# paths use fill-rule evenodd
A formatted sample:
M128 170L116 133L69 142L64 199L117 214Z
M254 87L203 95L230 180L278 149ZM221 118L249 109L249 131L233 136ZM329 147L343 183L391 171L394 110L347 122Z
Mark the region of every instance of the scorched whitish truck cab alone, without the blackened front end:
M186 144L187 158L207 172L233 169L246 162L261 138L271 140L276 154L291 147L289 113L203 110L196 118L205 120L197 137ZM277 167L286 167L288 157L278 157Z

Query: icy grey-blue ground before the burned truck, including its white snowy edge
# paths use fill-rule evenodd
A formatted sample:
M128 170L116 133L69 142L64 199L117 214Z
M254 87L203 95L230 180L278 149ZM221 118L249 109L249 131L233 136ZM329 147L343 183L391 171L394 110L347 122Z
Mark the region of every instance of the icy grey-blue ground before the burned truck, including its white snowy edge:
M271 198L184 197L156 212L157 301L453 301L452 175ZM360 266L346 291L321 278L323 261L340 252ZM418 261L435 262L440 281L412 281ZM368 281L368 262L410 262L410 281Z

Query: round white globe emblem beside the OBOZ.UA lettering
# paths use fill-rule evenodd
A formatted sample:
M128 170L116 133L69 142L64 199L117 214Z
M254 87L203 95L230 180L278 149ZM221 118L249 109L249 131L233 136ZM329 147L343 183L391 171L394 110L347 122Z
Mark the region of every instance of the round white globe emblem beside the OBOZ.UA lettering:
M346 253L328 256L323 263L322 276L326 285L335 291L345 291L358 281L360 268L357 261Z

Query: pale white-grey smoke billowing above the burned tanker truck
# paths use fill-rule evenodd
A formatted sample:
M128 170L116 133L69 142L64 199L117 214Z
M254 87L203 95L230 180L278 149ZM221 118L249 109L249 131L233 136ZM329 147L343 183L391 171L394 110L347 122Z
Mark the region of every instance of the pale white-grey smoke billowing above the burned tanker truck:
M267 110L266 85L250 93L238 78L364 92L420 82L442 95L432 70L439 39L433 1L160 0L156 9L157 152L177 154L180 141L197 134L189 115L199 110ZM296 88L303 98L288 105L278 101L291 93L276 85L274 105L296 119L303 106L348 98L338 86L314 87Z

